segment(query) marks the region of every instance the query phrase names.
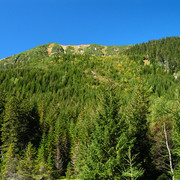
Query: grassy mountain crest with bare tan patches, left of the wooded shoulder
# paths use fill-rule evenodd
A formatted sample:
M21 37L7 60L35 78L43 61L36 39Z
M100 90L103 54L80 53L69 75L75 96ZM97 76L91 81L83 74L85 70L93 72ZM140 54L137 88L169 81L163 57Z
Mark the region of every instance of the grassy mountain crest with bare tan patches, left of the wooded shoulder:
M119 55L123 51L129 49L131 45L125 46L102 46L98 44L90 45L60 45L57 43L49 43L45 45L37 46L33 49L25 51L20 54L16 54L0 61L10 62L21 62L29 61L30 59L42 59L50 56L60 56L62 54L74 55L84 54L91 56L112 56Z

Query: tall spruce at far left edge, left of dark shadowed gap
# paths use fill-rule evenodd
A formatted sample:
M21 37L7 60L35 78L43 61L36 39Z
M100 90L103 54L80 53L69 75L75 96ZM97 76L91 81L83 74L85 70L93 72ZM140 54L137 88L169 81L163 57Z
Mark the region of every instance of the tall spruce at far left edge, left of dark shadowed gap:
M17 176L20 154L21 116L19 100L12 96L5 105L1 128L2 173L6 178Z

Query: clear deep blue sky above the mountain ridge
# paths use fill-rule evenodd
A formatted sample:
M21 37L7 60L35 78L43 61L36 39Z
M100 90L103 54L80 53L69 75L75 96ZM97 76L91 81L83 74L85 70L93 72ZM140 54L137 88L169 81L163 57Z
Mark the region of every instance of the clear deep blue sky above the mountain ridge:
M180 36L180 0L1 0L0 59L50 42L126 45Z

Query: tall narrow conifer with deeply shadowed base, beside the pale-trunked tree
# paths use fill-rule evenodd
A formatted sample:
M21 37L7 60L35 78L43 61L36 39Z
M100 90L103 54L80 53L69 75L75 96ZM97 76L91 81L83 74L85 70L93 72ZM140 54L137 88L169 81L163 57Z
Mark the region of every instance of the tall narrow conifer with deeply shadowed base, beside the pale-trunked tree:
M138 154L136 164L141 164L144 169L142 178L152 179L151 144L148 138L149 126L147 115L149 114L148 92L140 84L136 90L133 101L127 112L130 139L133 140L132 154Z

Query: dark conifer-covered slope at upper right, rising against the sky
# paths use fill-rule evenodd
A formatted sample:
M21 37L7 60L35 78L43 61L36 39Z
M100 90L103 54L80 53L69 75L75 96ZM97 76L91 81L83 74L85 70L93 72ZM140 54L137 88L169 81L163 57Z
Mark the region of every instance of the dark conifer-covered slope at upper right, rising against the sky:
M180 70L180 37L167 37L137 44L127 50L128 55L144 56L151 62L154 60L172 73ZM141 59L143 60L143 59Z

